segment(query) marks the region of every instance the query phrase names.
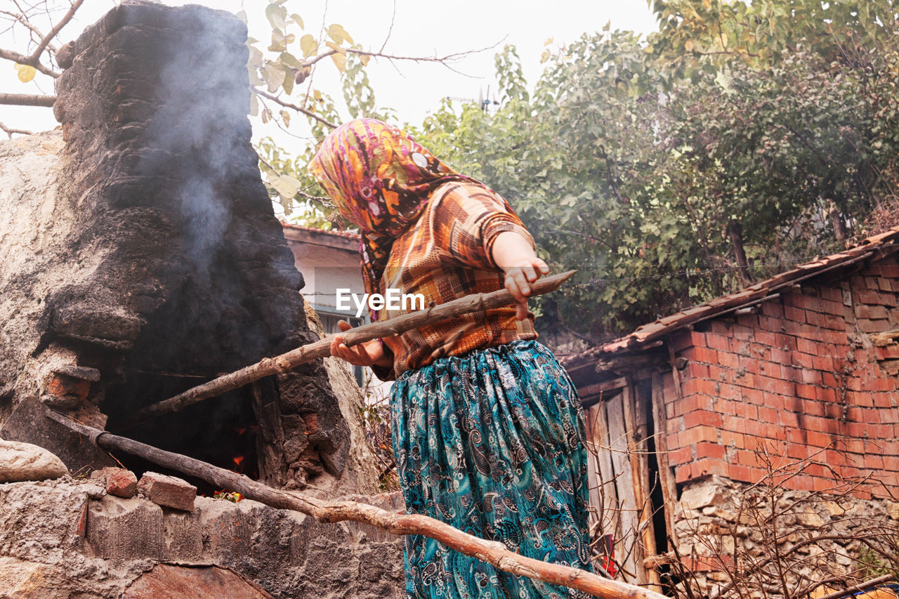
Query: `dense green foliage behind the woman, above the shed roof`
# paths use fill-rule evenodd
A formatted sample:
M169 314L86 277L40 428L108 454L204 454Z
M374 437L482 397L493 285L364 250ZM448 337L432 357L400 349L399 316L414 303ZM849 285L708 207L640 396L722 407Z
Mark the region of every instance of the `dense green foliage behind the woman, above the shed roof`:
M654 6L649 40L550 50L532 94L505 49L499 112L445 105L415 131L579 269L539 301L594 339L829 253L895 195L892 3Z

